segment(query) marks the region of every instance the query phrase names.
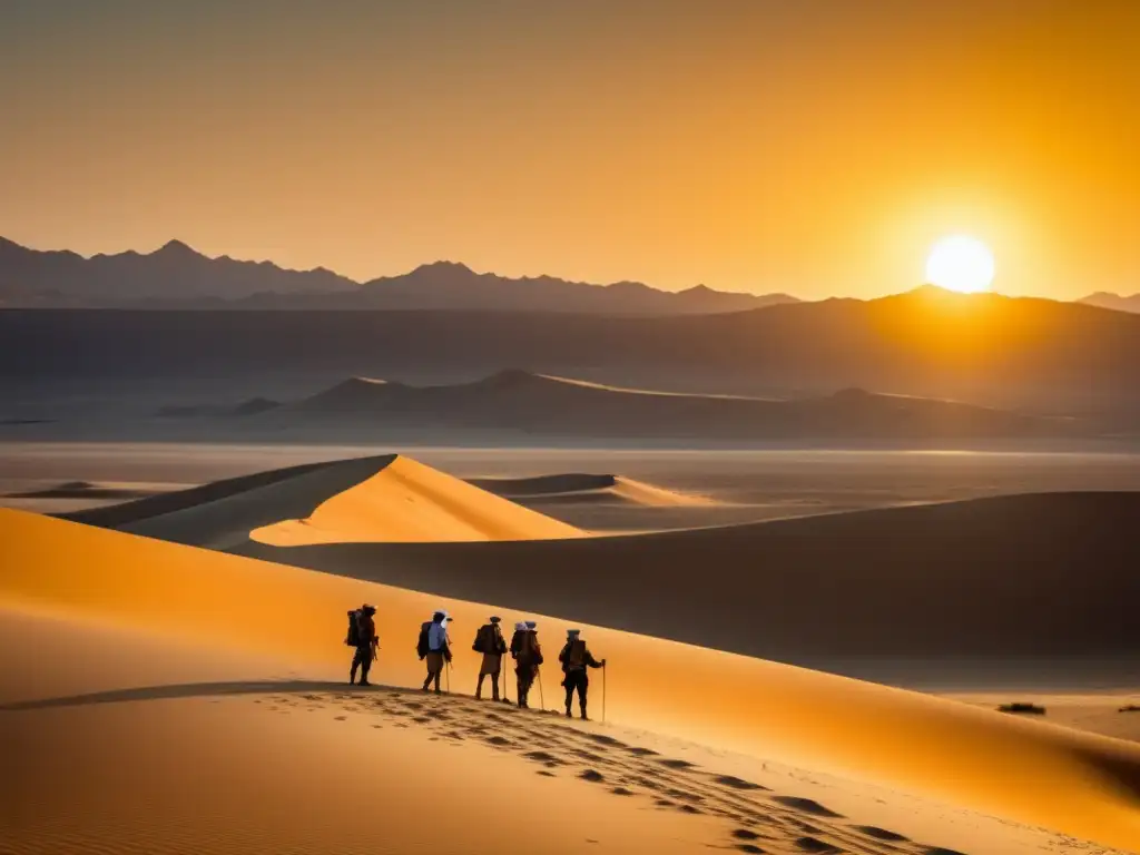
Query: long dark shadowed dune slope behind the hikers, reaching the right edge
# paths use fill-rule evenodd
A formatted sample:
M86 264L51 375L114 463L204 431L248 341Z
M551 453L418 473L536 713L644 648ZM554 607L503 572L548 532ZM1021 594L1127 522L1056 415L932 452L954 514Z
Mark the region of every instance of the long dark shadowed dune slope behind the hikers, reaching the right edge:
M1127 657L1140 542L1121 532L1138 518L1140 494L1045 494L564 543L245 554L816 667L840 653Z

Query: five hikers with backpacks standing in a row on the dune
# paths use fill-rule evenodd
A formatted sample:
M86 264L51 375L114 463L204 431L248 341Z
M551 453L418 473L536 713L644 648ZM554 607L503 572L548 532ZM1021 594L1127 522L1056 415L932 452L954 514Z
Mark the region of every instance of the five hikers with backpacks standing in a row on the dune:
M352 668L349 671L349 683L356 684L357 671L360 673L360 685L372 685L368 683L368 670L376 659L378 638L376 636L376 609L372 605L363 605L349 612L349 633L345 643L356 649L352 657ZM434 687L440 692L440 678L443 669L451 662L451 638L448 634L448 625L453 618L443 611L437 611L431 620L424 621L420 627L420 640L416 643L416 653L421 661L427 667L427 676L424 678L423 691L427 692ZM514 673L518 678L518 703L523 709L529 709L528 698L530 689L538 678L538 668L543 665L543 648L538 642L538 624L534 620L523 620L514 625L514 635L507 644L499 626L502 618L491 616L487 624L481 626L475 633L475 641L471 645L472 650L482 654L479 665L479 682L475 684L475 698L483 697L483 681L490 677L491 700L499 699L499 675L503 671L503 657L507 653L515 662ZM605 660L598 661L586 646L581 630L567 630L567 641L559 653L559 662L562 666L562 686L565 689L567 717L572 717L571 709L573 697L578 695L578 708L583 718L587 716L587 697L589 693L591 668L603 668ZM506 685L504 684L504 694ZM506 701L506 698L502 700Z

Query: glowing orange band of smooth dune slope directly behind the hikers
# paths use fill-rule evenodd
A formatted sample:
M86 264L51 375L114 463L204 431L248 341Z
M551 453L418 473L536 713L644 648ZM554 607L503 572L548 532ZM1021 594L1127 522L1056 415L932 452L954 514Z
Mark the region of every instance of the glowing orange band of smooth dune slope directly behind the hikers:
M345 604L378 606L377 679L412 685L435 597L0 511L0 602L31 603L189 637L219 650L343 670ZM453 685L490 606L449 602ZM510 619L508 612L504 618ZM538 618L547 646L565 621ZM271 632L254 632L271 627ZM609 714L624 725L856 775L1107 846L1140 846L1140 747L1020 722L902 690L718 651L584 627L610 659ZM547 690L553 692L553 669Z

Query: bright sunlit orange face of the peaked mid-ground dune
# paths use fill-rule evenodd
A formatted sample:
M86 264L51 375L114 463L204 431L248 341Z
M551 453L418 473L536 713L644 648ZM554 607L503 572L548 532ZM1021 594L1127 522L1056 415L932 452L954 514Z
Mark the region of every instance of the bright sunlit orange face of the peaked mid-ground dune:
M321 502L307 518L283 520L250 532L251 540L269 546L583 536L573 526L400 456L355 487Z

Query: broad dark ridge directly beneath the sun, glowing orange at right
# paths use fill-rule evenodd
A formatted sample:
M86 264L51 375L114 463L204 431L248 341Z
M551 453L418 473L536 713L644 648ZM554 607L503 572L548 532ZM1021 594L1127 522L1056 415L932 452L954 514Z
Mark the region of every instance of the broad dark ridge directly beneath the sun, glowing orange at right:
M668 317L0 311L9 401L62 385L83 399L174 382L185 394L192 381L206 400L298 400L345 376L433 384L506 368L702 394L860 388L1037 415L1123 414L1131 424L1140 418L1140 315L933 287Z

